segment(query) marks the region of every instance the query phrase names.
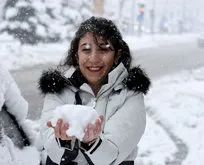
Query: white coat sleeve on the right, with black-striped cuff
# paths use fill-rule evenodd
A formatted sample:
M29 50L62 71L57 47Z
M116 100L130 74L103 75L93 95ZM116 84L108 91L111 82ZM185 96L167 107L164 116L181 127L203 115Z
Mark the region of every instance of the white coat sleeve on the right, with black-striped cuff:
M106 121L100 140L85 153L93 164L120 164L137 147L145 126L143 95L131 94L122 107Z

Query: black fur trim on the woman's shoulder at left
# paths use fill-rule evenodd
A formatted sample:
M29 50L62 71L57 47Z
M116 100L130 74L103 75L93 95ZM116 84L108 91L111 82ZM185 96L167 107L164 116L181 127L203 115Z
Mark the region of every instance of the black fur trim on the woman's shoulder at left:
M43 94L47 93L61 93L63 89L71 83L69 80L62 76L58 70L48 70L42 73L39 79L38 87Z

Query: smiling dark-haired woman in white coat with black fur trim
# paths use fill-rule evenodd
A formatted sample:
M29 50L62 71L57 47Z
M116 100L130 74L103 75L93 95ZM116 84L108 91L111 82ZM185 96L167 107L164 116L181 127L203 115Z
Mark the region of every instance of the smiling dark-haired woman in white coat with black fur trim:
M150 80L130 64L129 47L111 20L82 22L64 63L39 80L45 94L41 138L47 165L134 164L146 125L143 95ZM51 124L54 112L66 104L91 106L99 114L82 140L66 133L67 121Z

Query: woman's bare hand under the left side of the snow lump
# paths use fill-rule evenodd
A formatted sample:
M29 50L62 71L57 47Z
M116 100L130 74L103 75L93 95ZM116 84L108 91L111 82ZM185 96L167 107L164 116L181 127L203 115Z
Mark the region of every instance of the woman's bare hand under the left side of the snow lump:
M56 138L60 138L61 140L72 140L75 138L66 134L66 131L69 129L69 124L63 119L58 119L55 127L52 125L51 121L48 121L47 126L54 129Z

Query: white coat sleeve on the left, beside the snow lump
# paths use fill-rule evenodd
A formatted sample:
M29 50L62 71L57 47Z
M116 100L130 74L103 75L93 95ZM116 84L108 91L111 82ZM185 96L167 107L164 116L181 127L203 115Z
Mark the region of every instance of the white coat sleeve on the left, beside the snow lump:
M41 129L40 135L42 139L42 144L50 157L50 159L60 164L63 154L65 153L65 148L68 150L72 150L74 145L70 142L70 148L63 147L59 144L60 140L55 138L54 129L47 127L47 121L55 118L53 112L59 106L64 105L63 101L58 95L55 94L47 94L44 100L44 106L41 113Z

